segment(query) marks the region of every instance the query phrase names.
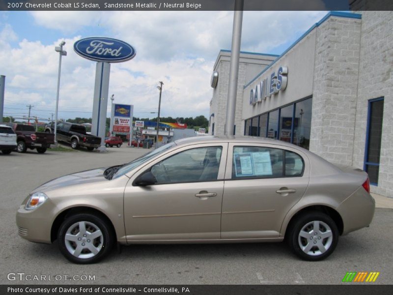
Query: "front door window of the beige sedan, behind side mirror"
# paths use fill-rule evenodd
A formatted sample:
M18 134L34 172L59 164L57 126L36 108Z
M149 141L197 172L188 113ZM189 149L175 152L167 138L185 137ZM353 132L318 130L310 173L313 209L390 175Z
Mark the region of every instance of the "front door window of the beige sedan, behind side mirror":
M222 147L181 151L151 168L158 184L217 180Z

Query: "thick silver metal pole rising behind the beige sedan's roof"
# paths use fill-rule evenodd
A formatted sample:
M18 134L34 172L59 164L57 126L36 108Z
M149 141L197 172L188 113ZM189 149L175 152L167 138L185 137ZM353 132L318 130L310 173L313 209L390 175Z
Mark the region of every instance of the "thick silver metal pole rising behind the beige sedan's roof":
M228 101L226 104L226 122L224 134L232 136L235 124L237 80L239 76L240 43L242 37L244 0L235 0L233 12L232 48L230 54Z

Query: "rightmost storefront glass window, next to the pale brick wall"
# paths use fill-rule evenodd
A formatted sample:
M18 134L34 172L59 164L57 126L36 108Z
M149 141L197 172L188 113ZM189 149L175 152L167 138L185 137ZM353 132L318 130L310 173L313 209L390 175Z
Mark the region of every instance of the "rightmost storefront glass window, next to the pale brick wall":
M311 107L311 98L295 104L293 144L307 149L310 146Z

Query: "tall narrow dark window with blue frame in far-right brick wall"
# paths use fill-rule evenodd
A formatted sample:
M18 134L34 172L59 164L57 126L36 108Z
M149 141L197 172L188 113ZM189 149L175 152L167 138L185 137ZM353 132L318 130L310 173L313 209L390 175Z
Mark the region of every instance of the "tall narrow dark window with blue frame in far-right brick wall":
M368 173L372 185L378 185L383 112L384 97L368 100L363 170Z

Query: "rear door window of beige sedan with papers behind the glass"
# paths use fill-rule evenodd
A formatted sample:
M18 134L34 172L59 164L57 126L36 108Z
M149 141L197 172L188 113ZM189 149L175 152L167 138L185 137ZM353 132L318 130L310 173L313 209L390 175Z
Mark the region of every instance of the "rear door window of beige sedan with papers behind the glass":
M282 177L283 150L233 147L232 179Z

